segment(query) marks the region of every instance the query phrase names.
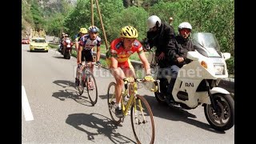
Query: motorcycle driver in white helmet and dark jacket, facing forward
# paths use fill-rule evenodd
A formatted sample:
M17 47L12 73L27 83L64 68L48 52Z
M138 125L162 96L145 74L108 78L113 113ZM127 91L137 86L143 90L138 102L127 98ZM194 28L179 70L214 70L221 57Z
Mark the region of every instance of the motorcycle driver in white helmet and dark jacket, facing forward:
M178 70L180 70L183 65L190 63L190 59L186 58L187 52L194 51L194 45L190 40L191 30L192 26L189 22L179 24L178 35L175 37L175 48L170 51L170 61L173 65L170 66L172 78L167 88L166 103L171 106L174 104L172 90L178 76Z

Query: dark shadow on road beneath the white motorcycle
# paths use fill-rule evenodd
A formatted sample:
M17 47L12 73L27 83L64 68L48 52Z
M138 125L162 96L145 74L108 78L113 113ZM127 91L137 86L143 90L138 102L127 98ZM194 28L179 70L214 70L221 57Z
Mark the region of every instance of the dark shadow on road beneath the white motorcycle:
M197 118L194 114L190 114L187 110L183 110L180 107L170 107L165 104L159 104L157 100L152 96L144 95L147 102L149 102L154 117L165 118L171 121L182 121L189 123L190 125L197 126L203 130L209 130L218 134L225 134L225 132L214 130L210 125L204 122L199 122L194 118ZM202 111L203 112L203 111Z

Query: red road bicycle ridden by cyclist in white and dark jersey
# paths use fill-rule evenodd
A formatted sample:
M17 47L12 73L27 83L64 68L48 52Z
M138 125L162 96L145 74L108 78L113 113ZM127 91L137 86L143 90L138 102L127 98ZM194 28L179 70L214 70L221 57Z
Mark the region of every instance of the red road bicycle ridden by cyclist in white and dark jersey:
M78 91L79 95L82 95L86 89L90 102L94 106L98 100L98 88L94 74L90 72L91 65L96 65L96 62L82 62L82 70L79 74L80 85L78 86Z

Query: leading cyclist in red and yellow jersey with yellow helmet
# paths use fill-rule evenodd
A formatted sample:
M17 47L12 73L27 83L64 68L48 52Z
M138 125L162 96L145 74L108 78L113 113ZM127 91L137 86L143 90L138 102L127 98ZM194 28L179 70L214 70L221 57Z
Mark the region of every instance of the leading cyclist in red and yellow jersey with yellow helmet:
M120 37L114 39L110 44L110 49L106 51L106 63L110 68L111 74L116 80L115 95L117 117L122 117L121 93L124 86L123 78L127 78L129 82L134 82L135 71L130 63L130 55L137 52L138 57L142 61L146 71L146 81L153 78L150 75L150 64L146 59L142 44L137 40L138 31L133 26L124 26L120 30Z

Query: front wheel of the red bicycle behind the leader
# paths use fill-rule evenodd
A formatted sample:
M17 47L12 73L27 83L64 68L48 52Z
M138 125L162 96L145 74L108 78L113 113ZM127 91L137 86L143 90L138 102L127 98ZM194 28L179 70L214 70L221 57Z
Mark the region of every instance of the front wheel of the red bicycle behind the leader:
M90 71L86 72L86 90L90 98L90 102L94 106L98 100L98 88L94 74L90 73Z

